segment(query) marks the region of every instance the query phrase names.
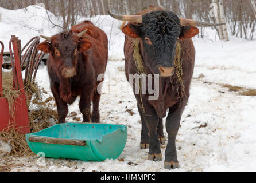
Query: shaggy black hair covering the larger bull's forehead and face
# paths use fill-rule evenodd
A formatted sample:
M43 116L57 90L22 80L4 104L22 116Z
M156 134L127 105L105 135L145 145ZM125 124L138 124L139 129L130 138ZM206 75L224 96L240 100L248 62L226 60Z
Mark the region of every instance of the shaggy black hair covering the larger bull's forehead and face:
M176 42L181 31L180 19L176 14L171 11L152 11L142 15L142 23L135 29L142 40L148 37L152 42L152 45L143 42L151 67L174 65Z

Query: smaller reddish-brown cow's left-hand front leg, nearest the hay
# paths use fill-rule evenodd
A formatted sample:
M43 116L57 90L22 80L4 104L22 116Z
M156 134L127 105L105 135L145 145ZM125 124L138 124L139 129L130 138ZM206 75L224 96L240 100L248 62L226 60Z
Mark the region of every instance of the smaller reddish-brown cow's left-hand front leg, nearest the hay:
M59 123L64 123L68 115L68 105L60 98L59 85L51 85L51 90L57 105Z

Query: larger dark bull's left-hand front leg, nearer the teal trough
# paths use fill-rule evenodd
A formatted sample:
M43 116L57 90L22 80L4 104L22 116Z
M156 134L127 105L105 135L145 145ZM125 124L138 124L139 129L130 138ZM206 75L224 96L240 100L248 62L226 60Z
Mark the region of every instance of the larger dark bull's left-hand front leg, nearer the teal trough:
M149 132L148 159L161 161L162 153L160 148L160 141L157 134L158 115L153 106L146 105L146 104L144 104L144 106L145 106L145 113L143 112L141 106L139 106L139 108L141 108L142 116L143 116L143 119L145 120L145 124Z

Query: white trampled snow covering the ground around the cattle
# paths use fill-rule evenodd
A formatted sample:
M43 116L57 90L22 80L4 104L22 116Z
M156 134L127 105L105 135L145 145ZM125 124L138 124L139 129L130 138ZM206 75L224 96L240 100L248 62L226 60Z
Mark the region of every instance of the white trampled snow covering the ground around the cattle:
M0 13L2 11L0 9ZM166 170L165 145L161 146L163 160L160 162L147 160L148 150L139 149L141 120L135 97L125 87L128 82L124 73L124 35L118 29L122 22L108 16L95 17L92 21L97 22L110 39L107 73L115 71L115 78L104 81L100 121L128 126L127 143L122 154L116 160L103 162L52 158L46 158L43 162L35 154L0 158L0 165L17 164L12 171L256 171L256 97L242 96L222 87L222 84L230 84L256 89L256 41L243 41L235 37L230 37L229 42L193 39L196 64L191 96L176 138L180 168ZM53 31L50 28L44 30L43 34L51 35ZM17 32L14 30L14 33ZM210 35L208 39L214 39L214 31L209 29L207 33ZM1 29L0 40L6 34L2 34ZM41 65L37 73L40 86L49 92L45 98L51 95L46 72L46 66ZM108 85L111 85L111 89ZM78 99L69 106L69 113L72 111L79 112ZM80 113L79 117L82 118ZM68 118L67 121L72 119Z

